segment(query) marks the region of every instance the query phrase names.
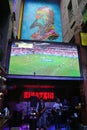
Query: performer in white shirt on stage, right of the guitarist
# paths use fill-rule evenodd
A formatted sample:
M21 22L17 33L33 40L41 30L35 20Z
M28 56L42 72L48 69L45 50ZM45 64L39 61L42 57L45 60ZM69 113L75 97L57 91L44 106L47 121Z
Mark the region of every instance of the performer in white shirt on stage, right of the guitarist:
M62 115L62 103L60 98L56 98L56 102L52 107L53 115L54 115L54 123L55 123L55 130L61 129L61 115Z

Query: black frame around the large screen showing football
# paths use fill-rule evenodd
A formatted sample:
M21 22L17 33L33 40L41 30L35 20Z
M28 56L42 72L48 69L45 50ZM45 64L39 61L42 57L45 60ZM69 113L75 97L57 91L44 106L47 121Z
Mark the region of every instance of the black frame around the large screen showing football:
M10 63L10 53L11 53L11 46L13 42L37 42L37 43L52 43L64 46L75 46L78 52L78 62L79 62L79 69L80 69L80 76L46 76L46 75L20 75L20 74L8 74L9 72L9 63ZM37 79L37 80L83 80L83 73L82 73L82 63L81 63L81 55L80 55L80 47L75 43L64 43L64 42L55 42L55 41L39 41L39 40L20 40L20 39L12 39L8 42L8 49L7 49L7 59L6 59L6 77L7 79Z

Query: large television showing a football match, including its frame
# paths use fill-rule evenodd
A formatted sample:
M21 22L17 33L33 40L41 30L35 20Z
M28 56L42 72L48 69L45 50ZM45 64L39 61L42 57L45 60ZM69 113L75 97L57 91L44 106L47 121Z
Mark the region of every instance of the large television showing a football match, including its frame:
M10 44L7 60L8 77L51 80L82 77L75 44L15 40Z

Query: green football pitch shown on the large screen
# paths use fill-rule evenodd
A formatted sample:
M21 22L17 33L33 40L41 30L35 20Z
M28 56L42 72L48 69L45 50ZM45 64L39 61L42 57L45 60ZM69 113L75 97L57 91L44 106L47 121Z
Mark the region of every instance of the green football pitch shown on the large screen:
M42 76L80 76L79 61L75 57L31 54L11 56L9 74Z

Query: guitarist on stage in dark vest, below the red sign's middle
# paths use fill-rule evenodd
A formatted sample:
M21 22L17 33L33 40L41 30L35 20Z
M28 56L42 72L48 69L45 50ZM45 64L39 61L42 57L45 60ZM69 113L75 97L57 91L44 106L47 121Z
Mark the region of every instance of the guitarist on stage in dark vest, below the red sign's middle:
M46 113L45 113L45 101L41 97L37 103L37 113L38 113L38 120L37 120L37 127L39 130L44 129L46 130Z

